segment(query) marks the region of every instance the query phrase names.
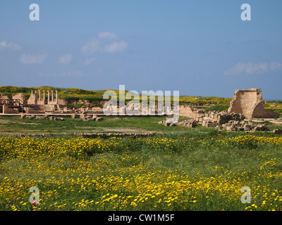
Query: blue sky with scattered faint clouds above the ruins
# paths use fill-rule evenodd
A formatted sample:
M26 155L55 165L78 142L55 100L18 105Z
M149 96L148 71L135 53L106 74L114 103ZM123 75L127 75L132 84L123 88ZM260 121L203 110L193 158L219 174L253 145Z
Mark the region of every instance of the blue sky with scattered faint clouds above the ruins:
M39 5L39 21L29 18ZM251 20L240 18L250 4ZM1 0L0 86L282 99L282 1Z

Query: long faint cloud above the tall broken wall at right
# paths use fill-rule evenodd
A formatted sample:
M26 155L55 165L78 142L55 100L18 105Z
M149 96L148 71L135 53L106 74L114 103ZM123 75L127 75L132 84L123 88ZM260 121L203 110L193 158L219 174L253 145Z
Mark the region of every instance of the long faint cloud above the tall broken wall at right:
M242 73L247 73L249 75L258 74L262 72L268 72L269 70L279 70L282 69L281 63L238 63L237 65L233 66L223 72L224 75L238 75Z

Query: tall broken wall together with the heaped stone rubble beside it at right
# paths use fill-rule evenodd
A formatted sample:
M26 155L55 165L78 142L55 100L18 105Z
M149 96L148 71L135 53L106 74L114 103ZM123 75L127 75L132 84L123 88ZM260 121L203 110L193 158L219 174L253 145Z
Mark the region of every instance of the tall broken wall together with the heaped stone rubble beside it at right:
M180 105L180 117L192 118L195 124L202 124L203 127L216 127L223 131L268 131L266 124L253 124L245 119L255 118L278 118L279 113L264 109L264 100L261 89L236 90L234 98L230 103L228 112L212 111L204 113L204 110L192 108L190 105ZM176 124L167 124L166 126L176 126ZM192 124L192 122L189 122ZM183 127L185 122L178 122Z

